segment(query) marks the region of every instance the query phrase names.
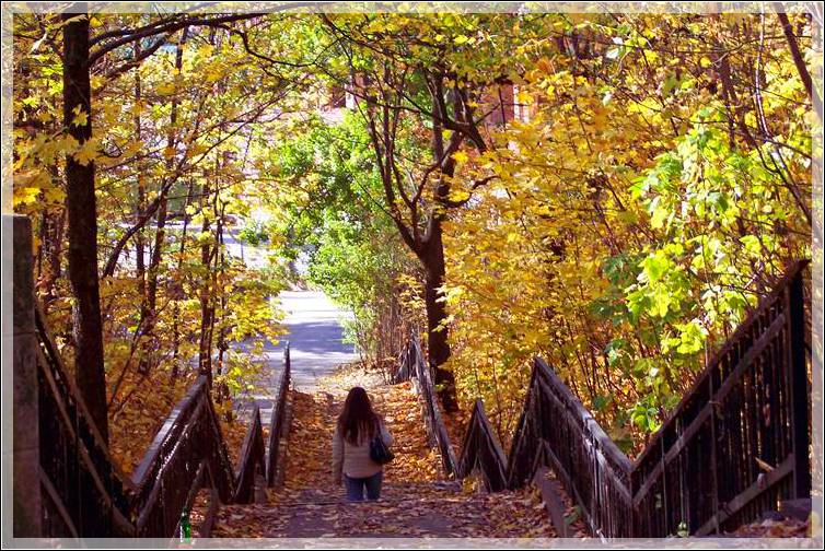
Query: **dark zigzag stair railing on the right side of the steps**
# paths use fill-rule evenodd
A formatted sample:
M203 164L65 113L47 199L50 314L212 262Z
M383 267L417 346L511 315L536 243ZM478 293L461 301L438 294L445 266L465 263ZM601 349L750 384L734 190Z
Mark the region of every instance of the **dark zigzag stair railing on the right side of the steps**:
M476 472L489 491L500 491L551 467L592 534L604 538L706 535L748 521L778 500L810 496L807 266L790 266L636 461L536 357L510 454L477 400L457 461L452 445L439 443L445 471L457 478ZM394 380L418 378L428 426L446 434L431 378L410 368L426 365L414 335ZM716 476L720 469L723 477Z

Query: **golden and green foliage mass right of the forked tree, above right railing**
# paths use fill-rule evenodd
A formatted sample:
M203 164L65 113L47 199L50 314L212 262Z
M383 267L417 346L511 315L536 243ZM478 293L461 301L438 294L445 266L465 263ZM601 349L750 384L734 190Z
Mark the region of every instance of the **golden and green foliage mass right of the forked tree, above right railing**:
M698 38L736 43L728 21L568 23L560 27L597 30L590 47L602 57L536 56L518 97L541 103L502 133L507 150L484 159L500 187L451 222L452 365L465 396L483 396L506 430L520 407L511 380L523 380L537 352L612 431L628 423L650 432L704 352L753 306L765 284L754 281L810 255L809 230L780 176L788 171L805 189L807 160L770 144L754 149L735 126L729 132L731 112L708 92L718 63ZM683 25L698 34L669 36ZM777 44L766 71L795 89ZM771 86L778 93L779 82ZM768 124L787 128L782 143L805 140L790 130L792 102L764 102ZM759 124L752 112L745 121ZM777 168L780 156L787 166ZM615 398L609 406L605 394Z

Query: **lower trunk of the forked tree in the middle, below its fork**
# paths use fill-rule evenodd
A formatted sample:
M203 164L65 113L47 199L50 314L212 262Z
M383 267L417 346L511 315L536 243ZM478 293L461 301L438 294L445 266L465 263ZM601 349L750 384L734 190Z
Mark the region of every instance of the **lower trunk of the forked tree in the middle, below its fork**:
M435 378L435 387L445 411L457 411L455 377L443 367L450 359L450 331L446 327L446 305L441 301L440 288L446 274L444 244L440 220L430 221L430 236L419 259L425 269L425 305L427 307L427 349Z

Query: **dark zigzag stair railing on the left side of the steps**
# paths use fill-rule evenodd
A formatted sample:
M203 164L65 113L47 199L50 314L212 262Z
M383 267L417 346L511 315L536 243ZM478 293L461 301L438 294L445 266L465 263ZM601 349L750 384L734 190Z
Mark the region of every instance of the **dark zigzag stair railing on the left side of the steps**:
M248 503L256 479L275 478L278 441L290 384L289 342L275 399L269 446L258 406L233 468L205 376L189 387L127 478L103 444L80 394L67 375L45 318L36 308L40 479L44 536L161 537L177 530L198 489L212 488L217 504ZM268 474L268 477L267 477Z

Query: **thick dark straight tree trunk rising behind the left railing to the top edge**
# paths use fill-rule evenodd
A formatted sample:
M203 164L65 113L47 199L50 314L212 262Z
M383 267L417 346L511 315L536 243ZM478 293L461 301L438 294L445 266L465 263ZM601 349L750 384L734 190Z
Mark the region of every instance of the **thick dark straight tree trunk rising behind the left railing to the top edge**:
M77 14L62 15L63 21L73 17ZM63 125L81 144L92 137L88 17L74 19L63 27ZM104 441L108 442L103 320L97 279L94 163L82 164L71 154L66 157L66 211L69 225L69 282L75 298L72 307L77 343L74 373L86 408Z

